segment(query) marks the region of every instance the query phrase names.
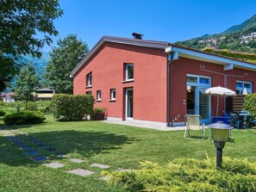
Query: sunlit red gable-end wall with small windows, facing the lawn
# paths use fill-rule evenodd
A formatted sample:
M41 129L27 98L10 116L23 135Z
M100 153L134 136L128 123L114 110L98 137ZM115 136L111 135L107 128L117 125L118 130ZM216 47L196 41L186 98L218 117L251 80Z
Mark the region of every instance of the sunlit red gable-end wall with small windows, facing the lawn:
M134 82L122 83L124 63L134 64ZM92 71L92 88L85 89L86 75ZM73 79L74 94L102 91L102 102L109 117L124 118L124 89L134 88L134 120L166 121L165 50L142 46L104 43ZM116 89L116 102L109 102L110 89Z

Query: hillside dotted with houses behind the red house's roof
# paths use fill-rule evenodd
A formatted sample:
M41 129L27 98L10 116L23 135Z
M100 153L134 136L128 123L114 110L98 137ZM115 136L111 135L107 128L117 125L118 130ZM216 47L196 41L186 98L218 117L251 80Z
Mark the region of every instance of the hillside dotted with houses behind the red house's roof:
M228 49L235 52L256 53L256 15L220 34L204 34L191 40L177 42L202 50L204 47Z

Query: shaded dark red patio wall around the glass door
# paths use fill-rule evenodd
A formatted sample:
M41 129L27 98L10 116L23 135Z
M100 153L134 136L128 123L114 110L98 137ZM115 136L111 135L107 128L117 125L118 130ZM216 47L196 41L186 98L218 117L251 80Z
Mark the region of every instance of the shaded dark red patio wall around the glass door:
M204 70L220 72L228 75L243 76L243 77L227 77L227 87L230 90L236 90L236 81L247 81L253 83L253 92L256 90L256 72L247 71L242 69L224 71L223 65L216 65L212 63L207 63L203 61L198 61L194 59L179 58L172 62L170 66L171 78L170 78L170 93L171 93L171 116L175 115L185 115L186 105L184 101L186 98L186 75L193 74L198 76L208 76L211 77L212 86L224 86L224 77L213 72L203 71L200 65L204 65ZM247 76L245 76L247 73ZM211 97L211 112L215 115L217 96ZM224 99L220 97L219 101L219 115L222 115L222 110L224 109Z

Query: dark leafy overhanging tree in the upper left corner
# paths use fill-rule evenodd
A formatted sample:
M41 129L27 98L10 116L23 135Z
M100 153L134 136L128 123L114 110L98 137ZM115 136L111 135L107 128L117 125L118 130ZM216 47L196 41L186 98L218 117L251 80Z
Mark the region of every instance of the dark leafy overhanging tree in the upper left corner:
M22 54L41 57L40 49L58 34L53 21L62 14L58 0L0 0L0 90L21 68Z

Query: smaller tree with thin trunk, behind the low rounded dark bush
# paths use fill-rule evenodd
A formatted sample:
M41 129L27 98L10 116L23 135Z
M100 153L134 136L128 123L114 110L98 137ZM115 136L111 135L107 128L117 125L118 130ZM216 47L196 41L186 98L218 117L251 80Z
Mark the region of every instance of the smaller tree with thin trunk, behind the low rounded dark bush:
M34 88L39 83L39 77L35 72L34 65L28 63L23 66L16 80L16 94L17 101L26 102L26 109L28 109L28 102L34 101Z

